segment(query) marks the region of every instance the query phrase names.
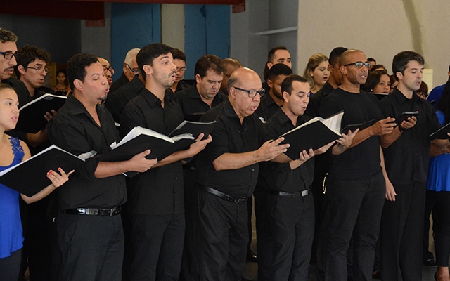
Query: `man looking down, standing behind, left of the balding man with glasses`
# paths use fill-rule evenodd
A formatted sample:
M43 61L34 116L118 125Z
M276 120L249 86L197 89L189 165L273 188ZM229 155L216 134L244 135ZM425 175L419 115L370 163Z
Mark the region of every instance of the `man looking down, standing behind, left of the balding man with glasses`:
M198 121L202 115L226 100L219 93L224 76L222 60L216 55L203 55L195 64L196 84L175 93L185 120ZM184 239L181 280L198 280L198 206L195 181L195 159L183 166L186 235Z

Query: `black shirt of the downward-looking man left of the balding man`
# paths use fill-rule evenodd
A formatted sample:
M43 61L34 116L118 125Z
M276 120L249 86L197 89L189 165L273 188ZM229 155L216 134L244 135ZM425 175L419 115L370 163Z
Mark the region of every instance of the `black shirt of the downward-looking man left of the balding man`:
M188 121L198 121L205 112L210 110L210 105L207 105L198 93L197 86L193 85L188 89L175 93L176 102L183 110L184 119ZM215 107L226 100L226 96L217 93L212 100L212 106Z

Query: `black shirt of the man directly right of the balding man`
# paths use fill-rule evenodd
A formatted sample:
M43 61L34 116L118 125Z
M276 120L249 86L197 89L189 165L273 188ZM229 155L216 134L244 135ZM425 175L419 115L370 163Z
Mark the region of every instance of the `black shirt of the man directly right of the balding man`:
M297 126L307 122L311 117L299 116ZM283 110L279 109L276 114L266 123L266 131L270 138L278 138L283 133L295 129L293 122L285 115ZM268 169L266 175L266 188L269 190L284 192L299 192L311 186L314 179L314 157L304 162L296 169L290 169L289 163L268 163L271 169Z

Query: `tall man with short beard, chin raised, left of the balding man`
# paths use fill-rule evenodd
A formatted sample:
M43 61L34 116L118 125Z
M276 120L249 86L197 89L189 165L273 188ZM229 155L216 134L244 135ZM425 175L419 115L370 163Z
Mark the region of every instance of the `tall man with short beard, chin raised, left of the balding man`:
M164 44L150 44L136 56L145 88L120 118L125 136L135 126L168 135L183 122L178 103L166 94L175 81L176 65ZM129 181L129 212L134 261L129 280L178 280L184 242L184 183L181 161L195 156L211 141L203 133L187 150L158 159L152 169ZM157 148L155 148L157 149Z

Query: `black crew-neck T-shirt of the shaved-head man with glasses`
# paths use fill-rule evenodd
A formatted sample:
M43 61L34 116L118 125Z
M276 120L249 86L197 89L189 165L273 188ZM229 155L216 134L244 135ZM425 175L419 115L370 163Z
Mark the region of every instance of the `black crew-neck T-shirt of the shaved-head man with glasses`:
M344 110L341 127L359 124L372 119L383 119L380 102L371 93L349 93L340 88L326 96L319 110L321 117L330 117ZM373 176L381 171L380 137L371 136L359 145L333 157L328 177L338 180L357 180Z

